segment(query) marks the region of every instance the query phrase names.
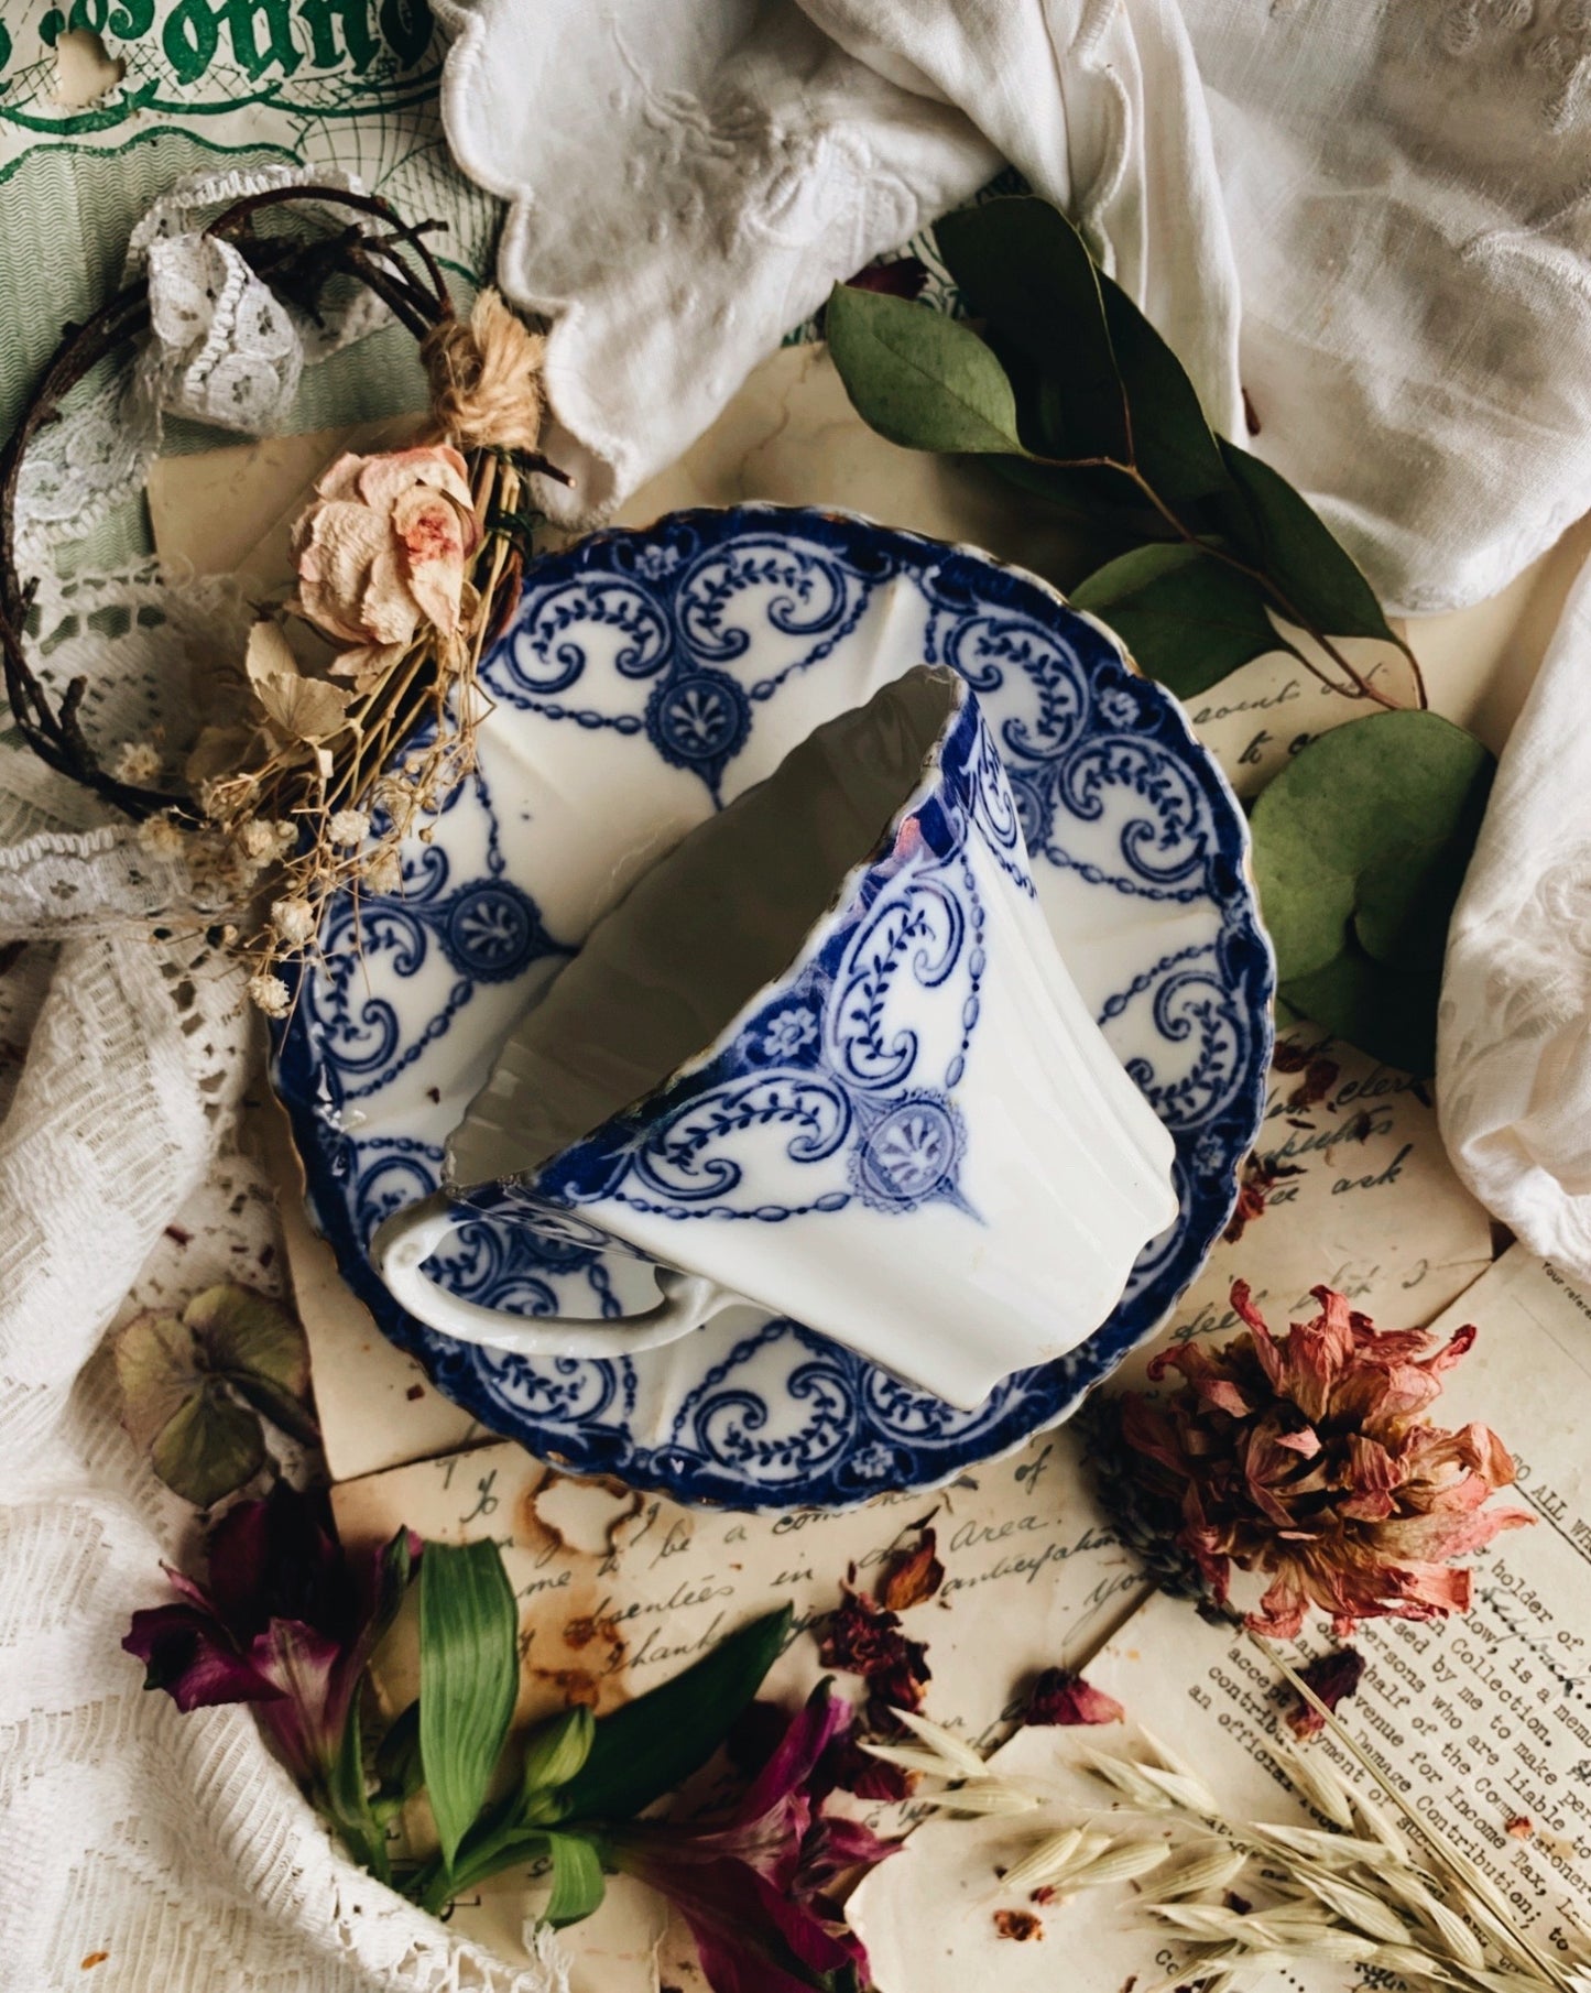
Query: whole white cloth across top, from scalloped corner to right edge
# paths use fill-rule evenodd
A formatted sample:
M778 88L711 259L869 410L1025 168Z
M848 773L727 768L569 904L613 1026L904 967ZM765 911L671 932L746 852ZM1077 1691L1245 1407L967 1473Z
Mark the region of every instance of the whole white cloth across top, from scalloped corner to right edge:
M590 514L999 159L1384 598L1493 594L1591 504L1587 0L445 0ZM576 195L578 189L578 197ZM560 502L556 494L548 494Z

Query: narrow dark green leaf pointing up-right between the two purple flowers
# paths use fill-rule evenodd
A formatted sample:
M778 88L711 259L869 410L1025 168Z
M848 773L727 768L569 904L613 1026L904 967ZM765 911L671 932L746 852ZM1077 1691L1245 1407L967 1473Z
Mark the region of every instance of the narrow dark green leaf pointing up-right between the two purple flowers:
M630 1820L698 1772L762 1688L790 1636L790 1606L766 1612L684 1674L604 1716L590 1756L564 1786L564 1818Z

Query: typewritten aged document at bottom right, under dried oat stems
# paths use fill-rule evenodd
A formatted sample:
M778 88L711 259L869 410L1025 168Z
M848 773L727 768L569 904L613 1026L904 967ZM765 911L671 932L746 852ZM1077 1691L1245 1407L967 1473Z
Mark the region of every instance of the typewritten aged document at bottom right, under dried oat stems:
M1489 1423L1517 1449L1517 1487L1497 1497L1535 1523L1495 1539L1475 1561L1475 1604L1445 1626L1370 1620L1354 1636L1366 1658L1358 1696L1338 1710L1378 1762L1370 1778L1334 1738L1322 1752L1372 1800L1410 1810L1443 1846L1493 1881L1515 1927L1563 1955L1567 1933L1591 1933L1591 1293L1515 1246L1437 1323L1479 1325L1433 1407L1441 1425ZM1312 1634L1292 1650L1316 1654ZM1244 1634L1210 1626L1184 1602L1154 1596L1091 1662L1089 1680L1130 1722L1166 1738L1250 1820L1304 1822L1276 1762L1290 1694ZM1061 1776L1077 1732L1021 1734L1011 1770ZM1091 1742L1120 1748L1126 1734ZM1065 1784L1065 1792L1081 1788ZM1069 1804L1075 1804L1069 1800ZM1097 1804L1097 1802L1095 1802ZM1049 1816L1045 1816L1049 1818ZM1075 1818L1075 1814L1069 1814ZM1055 1987L1120 1993L1174 1975L1176 1955L1130 1913L1130 1893L1041 1905L1037 1933L1001 1939L997 1863L1009 1865L1041 1828L1021 1822L919 1828L907 1853L867 1879L853 1905L881 1993L961 1993L999 1977L1003 1993ZM931 1907L929 1907L931 1905ZM1031 1905L1027 1905L1031 1907ZM913 1937L913 1927L933 1937ZM1380 1983L1344 1969L1254 1975L1246 1993L1348 1993Z

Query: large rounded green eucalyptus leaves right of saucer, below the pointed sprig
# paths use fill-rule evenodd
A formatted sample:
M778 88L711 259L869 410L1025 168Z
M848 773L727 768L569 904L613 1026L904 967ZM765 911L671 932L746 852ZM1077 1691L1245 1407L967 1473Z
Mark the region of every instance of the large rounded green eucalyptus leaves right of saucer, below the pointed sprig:
M1447 923L1493 767L1437 713L1374 713L1310 741L1254 805L1280 995L1422 1078L1435 1066Z

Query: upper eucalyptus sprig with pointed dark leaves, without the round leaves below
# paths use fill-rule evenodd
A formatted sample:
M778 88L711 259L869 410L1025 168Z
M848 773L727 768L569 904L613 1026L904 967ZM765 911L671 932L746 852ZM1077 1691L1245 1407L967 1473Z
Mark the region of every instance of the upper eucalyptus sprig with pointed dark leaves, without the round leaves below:
M1348 698L1396 708L1338 644L1374 638L1402 652L1426 704L1416 656L1352 556L1284 476L1212 432L1182 363L1059 207L1009 195L945 215L935 235L981 331L847 285L827 305L829 353L873 428L991 456L1073 516L1144 542L1073 600L1182 698L1284 650Z

